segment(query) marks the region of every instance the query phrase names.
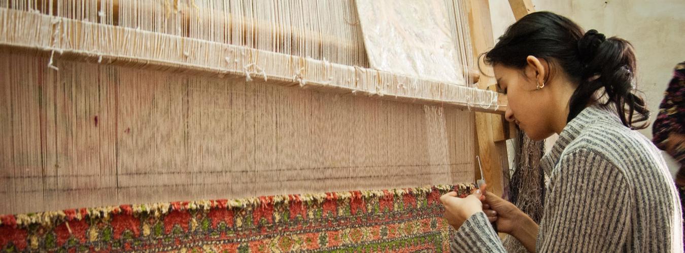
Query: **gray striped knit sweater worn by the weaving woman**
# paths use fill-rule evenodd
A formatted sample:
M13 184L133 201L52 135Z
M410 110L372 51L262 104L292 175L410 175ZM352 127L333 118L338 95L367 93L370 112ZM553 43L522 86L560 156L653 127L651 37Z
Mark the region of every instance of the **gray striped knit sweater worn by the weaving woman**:
M594 105L566 124L541 165L550 175L537 252L683 252L682 209L659 150ZM452 252L505 252L479 212Z

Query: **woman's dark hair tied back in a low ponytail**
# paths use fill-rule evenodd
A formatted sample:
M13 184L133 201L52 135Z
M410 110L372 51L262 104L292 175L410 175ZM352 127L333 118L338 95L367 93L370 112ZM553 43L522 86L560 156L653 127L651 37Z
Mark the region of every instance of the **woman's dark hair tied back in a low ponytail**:
M523 69L528 55L560 66L571 81L578 83L569 101L566 122L580 114L603 88L603 105L614 103L623 125L631 129L649 125L634 125L649 118L649 109L643 98L634 93L636 64L630 42L616 37L607 39L596 30L584 33L580 26L558 14L534 12L511 25L486 53L485 61Z

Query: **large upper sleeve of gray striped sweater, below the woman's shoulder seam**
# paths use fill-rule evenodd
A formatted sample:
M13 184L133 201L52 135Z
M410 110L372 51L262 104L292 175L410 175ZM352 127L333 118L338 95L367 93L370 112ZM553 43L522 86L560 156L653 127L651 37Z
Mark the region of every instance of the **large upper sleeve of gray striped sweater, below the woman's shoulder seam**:
M537 252L621 251L630 234L625 174L595 150L563 155L550 178Z

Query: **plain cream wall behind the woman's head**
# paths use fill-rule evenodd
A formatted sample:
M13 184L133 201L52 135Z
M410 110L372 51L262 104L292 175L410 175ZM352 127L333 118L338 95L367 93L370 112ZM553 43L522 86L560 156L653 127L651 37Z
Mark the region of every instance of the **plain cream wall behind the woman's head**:
M618 36L635 47L638 60L638 90L644 92L652 111L671 80L673 67L685 61L685 1L683 0L532 0L537 11L550 11L571 18L584 29L596 29L607 37ZM508 0L490 0L495 42L514 23ZM651 139L651 126L640 133ZM556 137L550 137L552 144ZM662 152L675 174L677 165Z

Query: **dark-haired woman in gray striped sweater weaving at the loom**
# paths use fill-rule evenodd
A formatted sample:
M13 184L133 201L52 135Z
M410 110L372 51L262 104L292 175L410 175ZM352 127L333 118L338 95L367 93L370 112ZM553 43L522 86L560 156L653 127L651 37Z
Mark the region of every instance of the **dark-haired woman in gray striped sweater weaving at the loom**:
M499 232L530 252L682 252L681 208L671 176L643 129L629 42L606 39L551 12L529 14L486 54L506 119L532 139L558 133L540 164L549 173L540 224L491 193L442 196L458 228L453 251L503 252ZM485 195L482 195L485 194Z

